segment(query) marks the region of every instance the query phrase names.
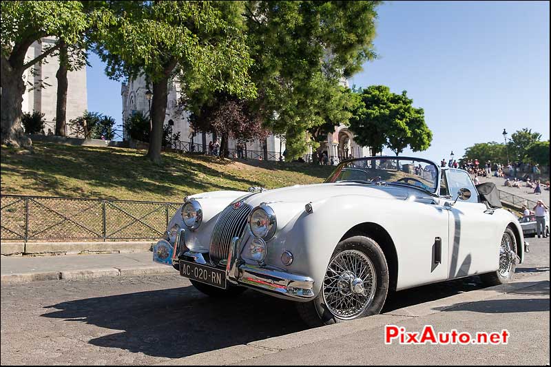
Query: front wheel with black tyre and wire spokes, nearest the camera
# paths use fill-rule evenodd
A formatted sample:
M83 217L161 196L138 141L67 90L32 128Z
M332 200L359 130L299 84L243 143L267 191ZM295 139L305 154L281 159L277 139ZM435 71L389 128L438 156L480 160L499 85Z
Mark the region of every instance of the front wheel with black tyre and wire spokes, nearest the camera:
M298 302L309 326L322 326L380 313L388 293L388 265L377 242L364 236L337 244L322 289L310 302Z

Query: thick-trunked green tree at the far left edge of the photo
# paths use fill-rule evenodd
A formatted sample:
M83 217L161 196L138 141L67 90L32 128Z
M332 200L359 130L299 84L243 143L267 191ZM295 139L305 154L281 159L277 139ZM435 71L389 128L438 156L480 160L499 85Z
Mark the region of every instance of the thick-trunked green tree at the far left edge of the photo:
M25 93L25 70L54 56L59 42L44 45L43 52L25 60L30 45L55 36L76 44L90 19L80 1L2 1L1 2L1 125L2 144L31 145L21 129L21 104Z

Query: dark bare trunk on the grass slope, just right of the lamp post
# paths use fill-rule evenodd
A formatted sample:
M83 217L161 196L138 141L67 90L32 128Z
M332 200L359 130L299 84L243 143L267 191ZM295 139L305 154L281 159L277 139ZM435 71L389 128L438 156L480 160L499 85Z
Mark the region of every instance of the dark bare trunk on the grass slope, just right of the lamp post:
M163 125L168 101L168 75L153 83L151 108L152 130L149 134L149 150L146 157L160 164L160 149L163 145Z

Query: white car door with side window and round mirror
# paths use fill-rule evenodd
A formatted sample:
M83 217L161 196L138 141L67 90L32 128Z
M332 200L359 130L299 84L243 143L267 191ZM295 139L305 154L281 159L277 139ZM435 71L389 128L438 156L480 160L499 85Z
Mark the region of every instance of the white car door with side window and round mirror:
M492 211L479 202L479 194L469 174L461 169L445 169L448 189L453 203L459 189L471 193L466 200L458 199L448 206L450 211L450 251L448 279L488 273L499 269L501 230Z

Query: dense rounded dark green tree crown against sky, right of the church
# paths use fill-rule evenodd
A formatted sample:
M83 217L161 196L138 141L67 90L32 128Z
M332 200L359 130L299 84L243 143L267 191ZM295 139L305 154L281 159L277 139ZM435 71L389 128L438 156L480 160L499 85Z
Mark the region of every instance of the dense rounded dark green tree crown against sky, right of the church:
M430 147L433 133L425 123L424 110L413 107L406 91L394 94L385 85L372 85L359 94L362 105L350 121L358 144L371 147L373 154L386 146L396 155L408 146L413 151Z

